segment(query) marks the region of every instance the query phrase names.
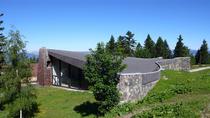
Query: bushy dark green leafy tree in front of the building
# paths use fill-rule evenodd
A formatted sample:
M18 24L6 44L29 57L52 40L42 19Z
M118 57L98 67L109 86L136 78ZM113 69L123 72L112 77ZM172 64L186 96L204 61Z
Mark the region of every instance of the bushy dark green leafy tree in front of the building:
M85 79L88 80L90 90L99 103L98 110L106 113L120 100L117 84L118 73L125 68L122 64L123 57L107 51L103 43L98 43L96 50L90 52L84 67Z

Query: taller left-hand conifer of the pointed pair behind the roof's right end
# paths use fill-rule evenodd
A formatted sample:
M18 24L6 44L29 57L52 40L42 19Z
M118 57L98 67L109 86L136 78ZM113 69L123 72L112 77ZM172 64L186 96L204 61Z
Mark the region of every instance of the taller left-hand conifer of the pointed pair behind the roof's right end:
M150 54L148 55L150 55L150 57L155 57L155 43L149 34L144 42L144 48L149 51Z

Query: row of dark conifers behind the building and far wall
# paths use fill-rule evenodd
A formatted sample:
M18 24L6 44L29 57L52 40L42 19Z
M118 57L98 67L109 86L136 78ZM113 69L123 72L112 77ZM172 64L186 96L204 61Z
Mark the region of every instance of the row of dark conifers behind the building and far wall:
M158 37L157 42L154 42L148 34L142 45L135 40L134 33L128 31L124 36L118 36L117 38L112 35L110 40L106 43L106 49L110 53L121 54L124 57L163 57L165 59L191 57L191 64L210 64L210 54L206 40L203 40L196 54L190 53L190 49L183 43L183 40L182 36L179 35L175 49L172 51L167 40L163 40L162 37Z

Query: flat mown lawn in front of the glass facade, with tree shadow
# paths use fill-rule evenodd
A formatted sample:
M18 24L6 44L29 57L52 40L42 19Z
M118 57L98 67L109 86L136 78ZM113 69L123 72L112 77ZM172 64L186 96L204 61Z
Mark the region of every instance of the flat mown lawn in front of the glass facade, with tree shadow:
M88 92L66 91L53 87L37 88L38 118L94 117L94 96Z

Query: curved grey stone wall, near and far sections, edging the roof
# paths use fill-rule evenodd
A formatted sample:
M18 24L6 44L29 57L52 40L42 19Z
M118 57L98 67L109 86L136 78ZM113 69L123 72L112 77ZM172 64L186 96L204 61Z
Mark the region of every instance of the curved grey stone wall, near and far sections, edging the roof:
M151 59L148 60L151 61ZM120 74L120 82L117 88L121 93L121 102L143 99L160 79L161 70L187 71L190 69L190 57L177 57L174 59L156 58L152 60L156 61L151 61L148 64L156 64L156 66L151 66L154 67L153 72ZM142 68L150 67L148 64Z

